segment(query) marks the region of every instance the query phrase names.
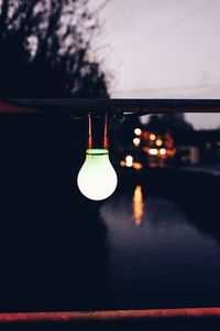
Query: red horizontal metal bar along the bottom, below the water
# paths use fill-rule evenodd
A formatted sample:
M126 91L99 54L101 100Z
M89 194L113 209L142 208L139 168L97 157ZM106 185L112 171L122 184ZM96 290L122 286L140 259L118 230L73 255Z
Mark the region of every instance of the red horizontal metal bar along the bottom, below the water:
M220 307L107 311L4 312L0 313L0 323L80 321L108 322L151 319L201 319L213 317L220 318Z

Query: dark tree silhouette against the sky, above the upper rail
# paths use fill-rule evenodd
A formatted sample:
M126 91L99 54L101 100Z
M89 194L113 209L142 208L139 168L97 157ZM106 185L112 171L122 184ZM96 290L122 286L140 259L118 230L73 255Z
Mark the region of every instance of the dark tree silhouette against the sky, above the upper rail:
M0 96L108 97L97 29L88 0L0 0Z

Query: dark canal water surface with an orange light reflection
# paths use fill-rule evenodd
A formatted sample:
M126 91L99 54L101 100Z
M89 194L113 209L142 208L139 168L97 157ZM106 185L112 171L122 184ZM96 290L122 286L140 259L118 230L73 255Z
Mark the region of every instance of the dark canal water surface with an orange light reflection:
M220 246L177 203L118 193L101 207L114 308L220 305ZM136 226L138 225L138 226Z

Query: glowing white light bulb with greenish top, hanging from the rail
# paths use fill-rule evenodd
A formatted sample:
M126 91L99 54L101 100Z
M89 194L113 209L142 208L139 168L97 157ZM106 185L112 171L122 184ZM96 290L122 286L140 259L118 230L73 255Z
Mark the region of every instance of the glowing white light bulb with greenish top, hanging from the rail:
M114 192L118 178L110 163L108 149L87 149L77 183L80 192L90 200L103 200Z

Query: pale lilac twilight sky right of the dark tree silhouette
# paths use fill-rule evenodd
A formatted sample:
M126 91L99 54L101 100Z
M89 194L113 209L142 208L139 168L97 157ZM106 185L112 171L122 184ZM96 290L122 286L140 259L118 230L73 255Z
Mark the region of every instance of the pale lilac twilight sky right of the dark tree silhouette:
M99 19L112 98L220 98L220 0L109 0ZM220 114L186 117L220 127Z

